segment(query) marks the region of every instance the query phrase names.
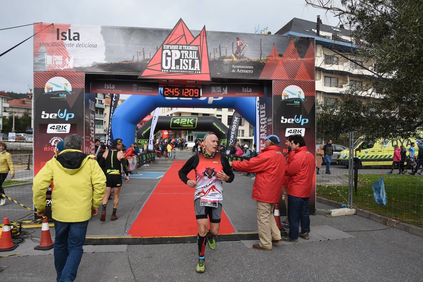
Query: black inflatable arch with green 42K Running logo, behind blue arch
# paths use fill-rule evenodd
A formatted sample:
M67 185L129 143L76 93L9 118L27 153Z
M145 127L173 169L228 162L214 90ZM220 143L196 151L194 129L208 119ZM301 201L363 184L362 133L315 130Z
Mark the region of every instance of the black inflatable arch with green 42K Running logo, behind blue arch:
M157 119L156 128L154 129L154 134L159 130L204 130L204 131L213 131L219 143L223 143L226 146L227 137L226 132L228 132L228 127L225 126L218 118L213 116L200 116L200 117L168 117L168 116L159 116ZM142 148L148 138L150 137L151 130L151 119L148 120L140 129L137 131L137 145Z

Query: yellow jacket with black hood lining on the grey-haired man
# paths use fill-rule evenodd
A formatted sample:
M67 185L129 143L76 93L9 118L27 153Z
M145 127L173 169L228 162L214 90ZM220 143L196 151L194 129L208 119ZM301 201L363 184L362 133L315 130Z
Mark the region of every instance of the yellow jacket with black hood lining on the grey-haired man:
M52 217L57 221L86 221L91 218L91 207L102 204L106 176L93 155L63 150L41 168L32 186L39 211L46 208L46 192L52 181Z

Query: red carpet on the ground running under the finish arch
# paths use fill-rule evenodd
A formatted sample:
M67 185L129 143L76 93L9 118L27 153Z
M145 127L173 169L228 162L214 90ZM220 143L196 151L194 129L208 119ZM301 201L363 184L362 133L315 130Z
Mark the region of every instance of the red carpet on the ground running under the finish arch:
M198 225L194 212L194 188L185 185L178 176L185 161L174 161L163 175L146 204L129 228L134 237L170 237L197 235ZM188 175L195 179L192 170ZM225 212L222 211L219 234L234 233Z

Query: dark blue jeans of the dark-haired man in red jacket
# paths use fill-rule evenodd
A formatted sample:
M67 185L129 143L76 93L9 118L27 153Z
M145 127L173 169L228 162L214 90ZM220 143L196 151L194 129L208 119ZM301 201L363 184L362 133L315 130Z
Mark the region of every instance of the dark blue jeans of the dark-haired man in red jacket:
M298 228L301 223L301 233L310 233L310 214L307 198L288 195L289 238L298 239Z

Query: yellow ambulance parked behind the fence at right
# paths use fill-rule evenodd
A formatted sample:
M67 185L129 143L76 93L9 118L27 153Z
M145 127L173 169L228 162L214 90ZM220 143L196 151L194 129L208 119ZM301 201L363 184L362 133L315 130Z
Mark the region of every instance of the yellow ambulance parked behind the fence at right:
M419 148L417 142L423 142L423 133L419 132L419 137L407 139L394 140L366 140L364 138L358 139L354 143L354 156L360 159L360 166L381 166L391 165L393 162L394 145L403 145L407 150L407 157L409 155L408 149L411 143L415 143L415 155L418 155ZM337 164L348 167L349 164L349 149L339 152Z

